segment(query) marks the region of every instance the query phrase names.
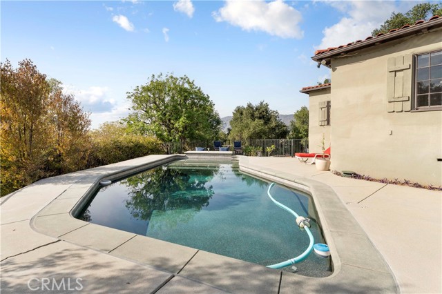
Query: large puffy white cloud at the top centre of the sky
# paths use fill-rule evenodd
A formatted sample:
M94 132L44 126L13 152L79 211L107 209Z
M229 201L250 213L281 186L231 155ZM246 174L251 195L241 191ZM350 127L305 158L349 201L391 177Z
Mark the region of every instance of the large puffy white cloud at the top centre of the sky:
M298 23L302 15L282 0L265 2L227 0L224 7L212 12L215 21L227 21L243 30L267 32L281 38L302 38Z

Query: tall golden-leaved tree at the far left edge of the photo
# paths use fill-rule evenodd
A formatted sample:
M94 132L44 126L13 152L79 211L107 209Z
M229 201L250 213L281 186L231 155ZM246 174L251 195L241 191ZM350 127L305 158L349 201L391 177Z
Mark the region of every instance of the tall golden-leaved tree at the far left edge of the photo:
M1 66L1 194L39 179L49 134L46 114L50 88L32 61Z

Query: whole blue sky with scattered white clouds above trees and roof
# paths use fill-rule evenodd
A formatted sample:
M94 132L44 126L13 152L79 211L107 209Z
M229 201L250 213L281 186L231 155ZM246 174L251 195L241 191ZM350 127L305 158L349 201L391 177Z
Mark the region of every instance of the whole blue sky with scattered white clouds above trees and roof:
M151 75L187 75L221 117L248 102L282 115L330 77L310 57L365 39L416 1L1 1L1 61L31 59L90 111L126 117L126 92Z

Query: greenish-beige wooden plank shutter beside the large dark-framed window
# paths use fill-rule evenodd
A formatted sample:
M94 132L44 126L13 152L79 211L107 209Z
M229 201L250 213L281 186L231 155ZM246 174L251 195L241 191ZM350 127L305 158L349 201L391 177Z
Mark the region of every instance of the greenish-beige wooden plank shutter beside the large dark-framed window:
M401 55L387 60L387 111L411 110L413 56Z

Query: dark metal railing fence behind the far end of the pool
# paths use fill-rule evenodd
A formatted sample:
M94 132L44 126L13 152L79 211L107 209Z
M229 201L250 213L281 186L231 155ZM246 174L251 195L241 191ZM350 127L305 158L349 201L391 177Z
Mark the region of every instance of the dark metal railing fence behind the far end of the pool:
M231 146L233 149L233 141L222 141L222 145ZM242 152L244 155L269 156L267 148L275 146L270 156L293 156L297 152L307 152L307 144L301 144L300 139L249 139L242 140ZM195 147L209 148L214 150L212 140L181 140L176 142L163 143L164 153L175 154L184 153L186 151L195 150ZM251 153L250 150L253 150ZM259 151L257 153L257 151Z

